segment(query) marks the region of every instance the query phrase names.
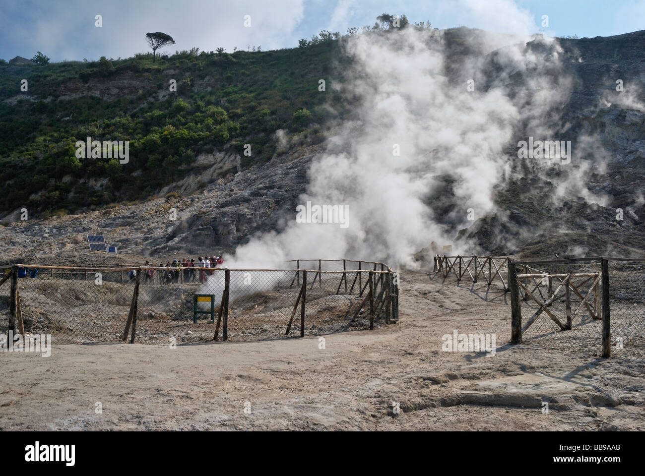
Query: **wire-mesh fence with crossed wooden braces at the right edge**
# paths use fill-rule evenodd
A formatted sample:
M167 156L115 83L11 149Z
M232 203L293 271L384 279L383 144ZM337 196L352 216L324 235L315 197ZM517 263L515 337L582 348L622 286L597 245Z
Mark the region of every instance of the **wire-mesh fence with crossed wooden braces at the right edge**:
M645 261L514 261L509 278L513 342L645 352Z

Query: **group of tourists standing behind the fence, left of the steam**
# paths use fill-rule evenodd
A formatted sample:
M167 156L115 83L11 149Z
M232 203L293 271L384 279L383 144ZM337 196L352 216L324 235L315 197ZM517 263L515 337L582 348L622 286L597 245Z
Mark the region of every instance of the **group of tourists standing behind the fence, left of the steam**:
M179 279L183 274L184 283L194 283L197 281L197 272L199 272L199 282L204 283L208 276L214 273L213 268L218 264L224 263L224 260L221 256L200 256L195 259L185 258L183 260L174 259L172 263L159 263L157 268L165 268L164 270L143 270L143 279L144 282L150 284L170 284L170 283L179 283ZM155 266L146 261L144 266ZM130 280L134 280L137 277L135 272L130 273Z

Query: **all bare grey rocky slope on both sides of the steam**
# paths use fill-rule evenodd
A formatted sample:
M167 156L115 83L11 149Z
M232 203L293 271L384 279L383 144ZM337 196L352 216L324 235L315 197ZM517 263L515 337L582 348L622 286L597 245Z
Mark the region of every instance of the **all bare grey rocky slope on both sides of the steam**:
M642 256L645 30L560 43L563 69L559 74L572 77L573 84L562 123L554 128L565 137L597 139L597 150L580 157L584 170L577 180L591 195L602 197L603 203L584 196L554 199L564 172L531 168L517 159L517 149L510 144L508 161L515 174L497 190L498 211L468 229L454 230L455 238L468 239L473 250L495 255ZM530 48L551 54L537 44ZM491 78L499 66L495 61L496 52L484 57L483 72ZM456 69L453 65L452 70ZM508 87L520 94L526 80L511 75ZM616 90L618 80L623 81L622 92ZM488 86L493 85L491 79ZM579 145L584 150L584 143ZM323 150L324 145L292 146L268 163L246 170L235 153L202 154L192 174L141 203L27 221L20 220L19 209L14 210L0 226L3 261L138 263L144 257L165 261L184 254L230 253L254 233L279 230L293 219L297 199L308 183L310 163ZM444 193L437 194L430 206L441 216L455 203L450 193ZM172 209L176 220L171 219ZM618 209L622 220L617 219ZM106 235L106 241L122 254L90 254L87 233Z

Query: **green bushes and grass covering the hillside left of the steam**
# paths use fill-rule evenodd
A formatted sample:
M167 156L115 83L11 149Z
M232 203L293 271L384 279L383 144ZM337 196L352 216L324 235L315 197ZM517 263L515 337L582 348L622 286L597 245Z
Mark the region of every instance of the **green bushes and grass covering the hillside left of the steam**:
M72 212L139 199L190 172L200 152L224 147L242 155L243 166L263 163L275 153L276 130L295 134L324 123L324 104L335 104L335 92L320 92L318 82L339 79L332 78L339 55L337 42L327 41L268 52L182 52L156 63L141 54L2 66L0 210ZM21 79L28 92L20 91ZM169 91L171 79L177 92ZM130 162L77 159L74 144L88 136L130 141Z

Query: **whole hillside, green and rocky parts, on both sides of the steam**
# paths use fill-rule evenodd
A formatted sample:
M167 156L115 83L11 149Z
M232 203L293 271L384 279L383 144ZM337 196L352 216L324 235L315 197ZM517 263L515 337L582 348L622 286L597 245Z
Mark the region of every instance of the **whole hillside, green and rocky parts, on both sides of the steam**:
M530 41L521 47L535 65L523 70L507 64L508 39L468 28L427 35L444 52L445 84L474 77L485 94L502 90L522 112L499 154L493 206L468 226L455 219L466 208L460 189L479 184L433 170L441 148L419 157L421 172L433 175L424 203L442 235L493 254L642 255L645 31ZM312 181L312 160L345 146L334 142L345 124L375 121L358 108L365 94L343 88L357 75L356 54L344 41L176 54L156 63L137 55L0 66L0 238L8 259L78 259L83 233L103 233L121 252L156 257L204 248L230 253L255 233L282 230ZM557 69L541 69L554 56ZM19 92L22 78L26 93ZM170 79L176 93L168 90ZM326 92L319 92L319 79L326 79ZM617 79L625 92L615 90ZM537 121L537 103L522 103L527 91L537 99L559 93L559 101ZM517 142L542 126L573 141L574 166L518 158ZM87 135L130 140L130 162L76 159L74 143ZM19 220L22 206L28 221ZM179 211L177 221L168 221L170 208Z

